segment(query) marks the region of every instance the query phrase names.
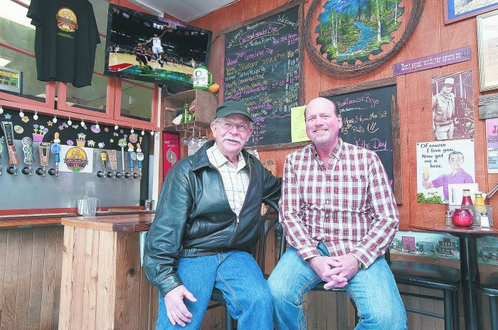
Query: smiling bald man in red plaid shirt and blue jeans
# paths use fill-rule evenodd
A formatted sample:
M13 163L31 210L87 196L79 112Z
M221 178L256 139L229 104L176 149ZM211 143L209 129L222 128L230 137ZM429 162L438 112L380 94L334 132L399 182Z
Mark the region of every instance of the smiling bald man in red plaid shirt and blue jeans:
M406 329L406 313L383 257L399 214L376 153L339 137L337 105L309 102L310 145L287 155L280 219L291 247L268 280L275 328L305 329L302 297L319 282L344 287L356 304L356 330Z

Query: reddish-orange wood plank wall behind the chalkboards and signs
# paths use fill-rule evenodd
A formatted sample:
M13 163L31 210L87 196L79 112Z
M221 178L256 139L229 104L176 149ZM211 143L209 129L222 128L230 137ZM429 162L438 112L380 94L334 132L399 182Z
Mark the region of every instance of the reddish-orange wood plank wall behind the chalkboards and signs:
M213 31L216 36L218 31L233 26L250 18L275 9L277 6L285 4L285 0L240 0L217 11L213 11L206 16L198 18L191 22L195 26L207 28ZM326 0L322 0L324 4ZM371 82L378 79L393 77L393 64L422 57L430 54L441 53L447 50L471 46L472 60L460 62L445 67L438 67L422 72L415 72L408 75L398 76L396 83L398 86L398 106L400 110L401 123L401 166L403 177L403 204L399 205L401 214L402 230L409 230L410 224L425 224L433 222L434 219L443 219L445 206L439 204L418 204L417 187L416 187L416 148L417 142L433 141L431 111L431 78L439 75L450 74L463 70L472 70L474 82L474 104L475 104L475 168L476 182L482 191L486 192L498 182L498 174L487 174L485 167L485 127L484 121L479 120L478 116L478 97L481 94L492 94L493 92L479 92L479 65L477 60L477 23L476 18L467 18L462 21L445 26L444 24L444 0L425 1L425 9L420 18L418 26L408 39L406 45L399 53L391 58L385 65L378 70L369 72L361 77L354 79L332 79L319 72L310 62L307 53L304 52L304 58L301 63L304 66L304 99L309 102L314 97L318 97L320 91L327 89L344 87L363 82ZM304 4L304 12L307 13L309 4ZM405 7L405 27L410 9L411 0L405 0L401 3ZM316 16L316 15L315 15ZM401 34L402 30L396 33ZM211 45L211 55L209 60L209 70L213 73L213 78L220 83L221 90L218 93L218 99L222 101L223 95L223 54L224 38L221 36L217 39L213 37ZM316 38L316 35L314 36ZM275 160L277 165L277 175L282 175L282 167L285 156L294 148L284 150L260 151L262 161L267 158ZM494 207L498 207L498 199L490 200Z

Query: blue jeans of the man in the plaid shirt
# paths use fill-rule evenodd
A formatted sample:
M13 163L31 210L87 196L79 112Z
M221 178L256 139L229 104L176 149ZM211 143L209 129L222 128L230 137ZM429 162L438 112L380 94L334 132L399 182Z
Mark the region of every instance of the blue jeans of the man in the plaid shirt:
M318 249L321 255L329 255L324 243L319 243ZM322 279L297 255L295 248L290 247L282 255L268 279L273 296L275 329L306 329L302 297L319 282ZM383 256L368 269L359 270L344 290L356 304L359 316L356 330L407 329L405 308L393 273Z

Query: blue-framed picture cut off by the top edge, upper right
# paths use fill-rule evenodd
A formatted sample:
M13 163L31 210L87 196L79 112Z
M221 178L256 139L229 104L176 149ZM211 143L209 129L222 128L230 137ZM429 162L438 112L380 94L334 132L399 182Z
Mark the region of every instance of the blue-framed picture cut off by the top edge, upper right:
M445 24L498 9L498 0L445 0Z

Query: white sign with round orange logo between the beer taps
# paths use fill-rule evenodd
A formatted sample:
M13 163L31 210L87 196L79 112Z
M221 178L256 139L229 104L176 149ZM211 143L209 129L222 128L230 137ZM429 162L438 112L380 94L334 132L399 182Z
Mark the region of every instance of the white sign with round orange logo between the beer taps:
M93 170L93 149L60 145L60 171L91 173Z

